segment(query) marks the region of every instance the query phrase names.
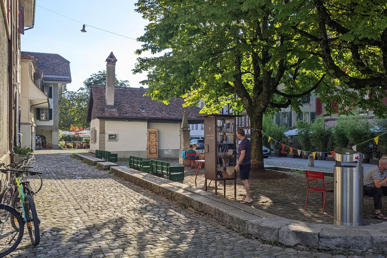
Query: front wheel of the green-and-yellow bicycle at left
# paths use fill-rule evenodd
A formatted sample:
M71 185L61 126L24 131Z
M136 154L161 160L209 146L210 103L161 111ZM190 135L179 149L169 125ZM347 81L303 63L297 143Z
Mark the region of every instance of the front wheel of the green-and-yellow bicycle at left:
M26 195L23 205L24 211L26 212L28 234L30 235L32 244L37 246L40 242L39 218L36 213L35 203L32 196Z

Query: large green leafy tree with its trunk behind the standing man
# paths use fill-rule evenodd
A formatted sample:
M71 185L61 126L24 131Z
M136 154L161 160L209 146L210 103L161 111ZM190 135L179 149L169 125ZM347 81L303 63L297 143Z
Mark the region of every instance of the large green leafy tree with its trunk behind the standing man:
M265 112L289 105L299 111L300 97L312 91L324 103L334 100L345 106L360 101L352 89L363 94L371 87L383 87L366 81L360 87L350 83L348 75L338 77L342 74L338 70L344 72L339 63L349 63L351 58L348 53L346 58L332 57L334 53L329 52L340 46L332 46L333 34L321 29L322 23L329 21L319 13L319 4L297 0L139 0L137 11L150 24L139 38L144 44L137 53L159 54L138 58L134 71L149 71L147 94L156 100L168 102L171 97L183 96L186 105L192 105L204 99L202 112L207 113L218 112L225 104L235 113L245 109L256 129L251 134L252 167L263 169L260 130ZM341 21L345 18L338 23ZM329 58L333 58L331 63Z

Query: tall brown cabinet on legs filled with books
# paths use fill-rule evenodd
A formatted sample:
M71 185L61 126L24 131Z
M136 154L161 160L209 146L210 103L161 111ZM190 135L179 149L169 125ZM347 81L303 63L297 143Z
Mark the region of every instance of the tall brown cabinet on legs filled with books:
M204 152L206 155L205 188L207 180L215 181L215 194L218 193L218 181L234 180L234 198L236 200L236 125L235 115L204 116ZM211 183L211 181L210 181Z

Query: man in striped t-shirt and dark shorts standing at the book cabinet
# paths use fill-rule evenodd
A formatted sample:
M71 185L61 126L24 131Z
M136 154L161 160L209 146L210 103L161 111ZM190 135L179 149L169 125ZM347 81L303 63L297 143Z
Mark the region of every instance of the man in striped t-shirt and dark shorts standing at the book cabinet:
M238 144L238 140L240 140L240 144ZM238 146L239 150L239 159L238 163L235 166L235 170L239 169L240 179L244 184L244 188L246 189L246 198L241 201L241 204L249 204L251 203L250 199L250 182L248 181L248 175L250 173L250 156L251 156L251 143L244 137L244 130L239 128L236 131L236 139L235 143Z

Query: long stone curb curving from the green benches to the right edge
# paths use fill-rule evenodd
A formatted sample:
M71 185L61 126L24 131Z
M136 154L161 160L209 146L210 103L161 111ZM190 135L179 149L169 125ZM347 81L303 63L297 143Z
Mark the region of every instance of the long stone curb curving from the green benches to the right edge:
M306 223L230 201L214 193L163 179L124 166L110 167L110 171L136 185L149 189L173 202L214 219L252 237L275 241L287 246L302 245L325 250L355 252L386 252L387 223L369 226L336 226Z

